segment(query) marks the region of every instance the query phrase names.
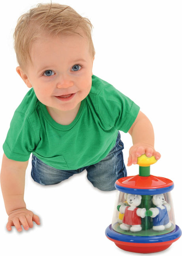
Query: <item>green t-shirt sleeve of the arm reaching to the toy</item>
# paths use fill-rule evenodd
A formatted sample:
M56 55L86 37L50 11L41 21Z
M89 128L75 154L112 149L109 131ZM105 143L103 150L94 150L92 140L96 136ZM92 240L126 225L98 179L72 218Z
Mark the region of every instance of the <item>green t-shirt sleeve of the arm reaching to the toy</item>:
M99 94L98 107L106 125L127 133L140 110L130 98L112 85L107 85Z

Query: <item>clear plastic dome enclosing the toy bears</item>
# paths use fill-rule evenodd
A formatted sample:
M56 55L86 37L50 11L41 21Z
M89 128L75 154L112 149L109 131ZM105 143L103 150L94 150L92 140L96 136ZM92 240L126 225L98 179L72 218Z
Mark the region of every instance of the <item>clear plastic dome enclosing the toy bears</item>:
M112 229L135 236L156 236L175 229L171 192L135 194L118 191Z

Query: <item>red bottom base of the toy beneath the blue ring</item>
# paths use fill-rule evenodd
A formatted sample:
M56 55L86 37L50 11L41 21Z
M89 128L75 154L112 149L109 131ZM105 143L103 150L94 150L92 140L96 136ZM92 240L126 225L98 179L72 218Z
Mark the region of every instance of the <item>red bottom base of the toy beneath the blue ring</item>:
M161 252L167 249L172 243L178 240L178 238L172 241L162 243L127 243L123 241L116 241L113 239L110 240L112 240L116 244L116 246L128 252L152 253Z

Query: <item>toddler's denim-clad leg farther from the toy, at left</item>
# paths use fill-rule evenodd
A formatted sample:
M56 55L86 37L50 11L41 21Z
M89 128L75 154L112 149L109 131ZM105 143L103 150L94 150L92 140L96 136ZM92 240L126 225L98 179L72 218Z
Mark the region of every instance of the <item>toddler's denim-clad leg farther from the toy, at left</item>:
M59 170L44 164L44 162L36 156L32 156L31 176L34 181L41 185L53 185L60 183L76 173L80 173L80 170Z

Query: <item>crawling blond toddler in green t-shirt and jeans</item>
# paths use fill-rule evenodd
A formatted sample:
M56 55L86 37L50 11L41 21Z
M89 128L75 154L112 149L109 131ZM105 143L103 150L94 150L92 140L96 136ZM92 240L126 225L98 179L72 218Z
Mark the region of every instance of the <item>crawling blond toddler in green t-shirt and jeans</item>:
M92 74L95 50L92 25L69 6L39 4L22 15L14 33L17 73L31 88L15 111L3 144L1 187L7 229L40 224L26 208L25 171L32 153L31 176L53 185L87 170L102 191L115 189L127 175L119 131L133 146L128 166L154 149L152 124L139 107Z

